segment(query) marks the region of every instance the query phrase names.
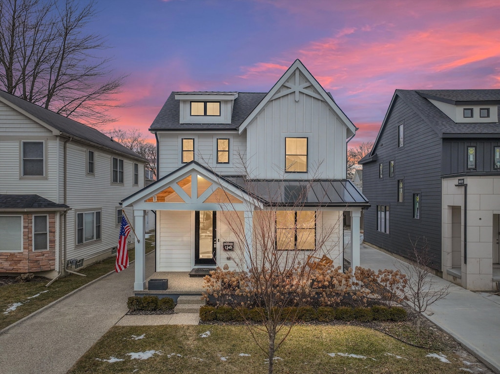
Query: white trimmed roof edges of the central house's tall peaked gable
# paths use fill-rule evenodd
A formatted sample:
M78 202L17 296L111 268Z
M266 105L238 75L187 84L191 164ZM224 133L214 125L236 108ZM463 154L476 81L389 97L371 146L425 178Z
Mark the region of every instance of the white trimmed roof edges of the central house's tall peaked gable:
M285 83L288 78L295 73L295 70L299 70L305 78L312 84L312 86L319 92L319 95L321 98L328 103L328 105L331 107L333 112L335 112L338 117L341 119L341 121L344 123L344 125L347 127L348 130L350 130L350 134L347 133L347 136L350 137L351 135L354 135L356 132L356 127L354 124L351 122L349 118L345 115L345 113L339 108L339 106L335 103L333 100L333 97L328 94L324 88L318 83L316 78L312 76L312 74L307 70L307 68L303 65L303 63L299 60L296 59L293 64L284 72L284 74L281 76L281 78L278 79L278 81L272 86L272 88L267 92L265 97L262 99L262 101L259 102L259 104L253 109L253 111L248 115L248 117L241 123L241 126L239 127L239 133L241 133L245 127L255 118L255 116L260 113L260 111L264 108L264 106L271 100L271 98L274 96L274 94L281 88L283 83ZM296 90L299 90L299 86L296 87Z

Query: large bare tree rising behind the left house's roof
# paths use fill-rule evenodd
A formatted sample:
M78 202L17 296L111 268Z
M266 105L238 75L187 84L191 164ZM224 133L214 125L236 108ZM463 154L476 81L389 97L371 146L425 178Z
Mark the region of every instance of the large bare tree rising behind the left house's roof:
M104 40L85 33L95 15L92 0L0 0L2 89L94 127L113 121L124 76L111 77L96 55Z

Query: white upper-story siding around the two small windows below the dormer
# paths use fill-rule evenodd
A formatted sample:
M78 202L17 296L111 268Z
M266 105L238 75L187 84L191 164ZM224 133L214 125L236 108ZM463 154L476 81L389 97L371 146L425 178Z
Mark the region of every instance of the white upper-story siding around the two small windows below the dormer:
M242 173L241 159L244 162L246 151L246 136L244 133L239 135L237 131L158 132L158 178L185 165L181 162L181 142L183 138L194 139L194 160L201 165L222 175L239 175ZM229 139L228 164L217 164L217 139L222 138Z

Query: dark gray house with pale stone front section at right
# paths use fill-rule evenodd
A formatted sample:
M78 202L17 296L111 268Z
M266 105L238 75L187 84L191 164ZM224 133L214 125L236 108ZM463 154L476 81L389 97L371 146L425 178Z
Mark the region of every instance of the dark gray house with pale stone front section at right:
M500 90L396 90L363 165L364 240L464 288L500 281Z

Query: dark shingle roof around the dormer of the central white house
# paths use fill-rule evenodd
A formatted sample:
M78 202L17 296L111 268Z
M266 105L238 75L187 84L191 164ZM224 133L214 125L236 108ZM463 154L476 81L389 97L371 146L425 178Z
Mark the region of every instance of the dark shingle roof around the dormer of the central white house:
M267 92L237 92L234 100L231 123L179 123L179 100L176 94L193 94L193 92L172 92L160 109L149 130L236 130L245 118L251 113ZM213 93L213 92L200 92ZM233 94L228 92L227 94Z

